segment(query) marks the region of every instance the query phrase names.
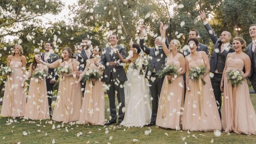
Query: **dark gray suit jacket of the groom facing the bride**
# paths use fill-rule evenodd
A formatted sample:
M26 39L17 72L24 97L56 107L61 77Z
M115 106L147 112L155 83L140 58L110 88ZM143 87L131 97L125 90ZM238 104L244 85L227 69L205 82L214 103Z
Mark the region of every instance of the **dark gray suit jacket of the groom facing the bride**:
M116 49L118 49L119 53L123 57L123 59L126 58L126 50L124 47L121 45L117 45ZM104 73L103 73L103 78L102 82L110 82L110 76L112 73L113 79L116 79L120 82L125 82L127 81L127 77L124 71L124 68L122 65L119 65L118 63L121 63L120 59L118 58L116 53L113 53L111 55L111 48L110 47L105 47L102 52L101 56L101 61L100 63L105 66ZM110 66L107 64L108 62L114 62L117 61L117 64L115 66Z

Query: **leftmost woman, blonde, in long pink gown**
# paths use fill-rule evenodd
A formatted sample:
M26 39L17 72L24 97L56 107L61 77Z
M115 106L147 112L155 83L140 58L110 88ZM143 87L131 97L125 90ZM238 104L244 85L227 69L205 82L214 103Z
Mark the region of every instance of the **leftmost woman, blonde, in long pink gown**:
M7 76L1 116L24 116L26 109L25 70L26 57L23 56L23 48L19 44L13 46L13 54L7 57L7 66L13 69L13 73Z

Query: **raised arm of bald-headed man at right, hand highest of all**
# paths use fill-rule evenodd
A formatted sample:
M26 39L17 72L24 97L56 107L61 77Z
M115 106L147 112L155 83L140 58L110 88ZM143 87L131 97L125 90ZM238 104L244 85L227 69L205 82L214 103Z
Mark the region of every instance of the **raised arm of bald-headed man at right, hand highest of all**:
M211 41L215 44L218 40L218 36L215 34L214 30L210 27L206 19L206 14L204 11L199 12L201 20L204 22L204 28L206 29L208 35L210 36Z

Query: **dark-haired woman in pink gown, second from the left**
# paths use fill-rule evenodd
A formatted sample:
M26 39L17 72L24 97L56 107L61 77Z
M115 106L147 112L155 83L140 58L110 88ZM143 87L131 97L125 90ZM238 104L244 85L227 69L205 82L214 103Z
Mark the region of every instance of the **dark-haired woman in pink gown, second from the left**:
M48 67L46 65L42 65L38 59L41 59L41 55L40 53L35 53L33 62L29 66L28 78L31 78L36 71L48 71ZM24 118L33 120L50 119L45 78L31 78Z

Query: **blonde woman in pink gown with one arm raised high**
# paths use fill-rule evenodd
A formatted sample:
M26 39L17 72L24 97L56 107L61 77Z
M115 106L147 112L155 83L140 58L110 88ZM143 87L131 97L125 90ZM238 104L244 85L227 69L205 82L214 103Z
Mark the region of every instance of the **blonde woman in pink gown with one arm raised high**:
M175 79L173 79L173 76L166 76L164 78L158 104L156 125L163 128L180 130L181 107L183 107L184 103L183 75L186 73L186 62L183 55L178 53L178 49L181 47L179 40L171 40L169 44L170 51L168 50L165 44L165 32L167 28L167 25L163 27L161 23L160 33L162 36L163 51L167 57L166 65L176 65L179 70L179 76ZM172 83L168 84L168 80L172 80Z

